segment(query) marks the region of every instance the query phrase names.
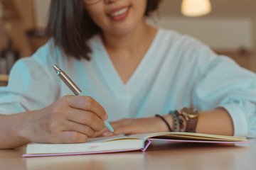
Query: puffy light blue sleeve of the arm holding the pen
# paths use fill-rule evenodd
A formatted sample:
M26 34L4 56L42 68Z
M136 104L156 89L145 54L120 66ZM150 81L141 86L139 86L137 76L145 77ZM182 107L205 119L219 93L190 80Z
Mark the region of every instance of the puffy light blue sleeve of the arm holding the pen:
M58 87L43 64L27 57L18 60L11 69L8 86L0 88L0 113L33 111L56 100Z

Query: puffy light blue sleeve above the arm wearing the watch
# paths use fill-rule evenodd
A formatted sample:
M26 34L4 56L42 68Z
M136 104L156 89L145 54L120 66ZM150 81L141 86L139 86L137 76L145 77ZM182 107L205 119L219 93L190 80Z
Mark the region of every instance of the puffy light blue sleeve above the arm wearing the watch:
M256 74L210 49L201 54L198 65L193 105L202 111L225 108L235 136L256 137Z

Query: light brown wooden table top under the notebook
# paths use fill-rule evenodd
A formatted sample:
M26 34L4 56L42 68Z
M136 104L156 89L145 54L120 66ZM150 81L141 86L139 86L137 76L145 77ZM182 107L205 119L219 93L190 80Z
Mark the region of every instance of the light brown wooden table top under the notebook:
M154 145L147 152L22 158L16 150L0 150L0 169L256 169L256 139L249 145Z

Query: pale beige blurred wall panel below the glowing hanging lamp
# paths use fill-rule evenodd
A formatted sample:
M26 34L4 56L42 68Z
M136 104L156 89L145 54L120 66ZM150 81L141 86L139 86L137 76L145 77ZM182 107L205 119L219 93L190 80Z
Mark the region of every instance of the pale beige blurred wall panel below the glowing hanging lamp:
M156 17L155 17L156 18ZM252 50L252 22L247 18L174 18L149 19L153 26L191 35L214 50Z

